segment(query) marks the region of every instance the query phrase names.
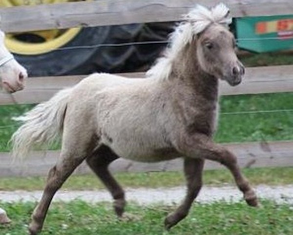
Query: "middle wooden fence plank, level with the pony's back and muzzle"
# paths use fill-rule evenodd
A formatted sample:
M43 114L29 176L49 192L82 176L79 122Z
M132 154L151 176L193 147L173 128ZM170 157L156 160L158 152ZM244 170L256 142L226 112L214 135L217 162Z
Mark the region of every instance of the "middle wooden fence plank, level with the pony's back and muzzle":
M247 68L239 86L231 87L221 81L223 95L293 92L293 66ZM120 74L129 78L145 77L144 73ZM39 103L48 100L59 90L74 86L85 76L39 77L27 79L26 89L15 94L0 93L0 105Z

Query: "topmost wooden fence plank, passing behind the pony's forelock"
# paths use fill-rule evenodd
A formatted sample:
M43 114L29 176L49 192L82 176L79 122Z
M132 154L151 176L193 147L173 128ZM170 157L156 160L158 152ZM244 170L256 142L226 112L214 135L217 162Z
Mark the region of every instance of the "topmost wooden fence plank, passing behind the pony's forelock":
M0 28L21 32L77 26L179 21L196 3L218 0L98 0L0 8ZM293 14L292 0L226 0L234 17Z

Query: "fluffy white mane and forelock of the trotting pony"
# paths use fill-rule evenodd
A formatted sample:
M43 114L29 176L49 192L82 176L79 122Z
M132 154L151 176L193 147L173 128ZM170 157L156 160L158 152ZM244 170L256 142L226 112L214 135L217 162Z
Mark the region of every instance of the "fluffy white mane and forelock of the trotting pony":
M175 28L170 35L170 46L166 49L165 55L159 58L156 64L146 72L146 76L157 76L167 79L171 73L172 62L178 53L192 41L193 36L204 31L209 24L231 24L229 8L223 3L208 9L197 5L187 15L183 16L184 23Z

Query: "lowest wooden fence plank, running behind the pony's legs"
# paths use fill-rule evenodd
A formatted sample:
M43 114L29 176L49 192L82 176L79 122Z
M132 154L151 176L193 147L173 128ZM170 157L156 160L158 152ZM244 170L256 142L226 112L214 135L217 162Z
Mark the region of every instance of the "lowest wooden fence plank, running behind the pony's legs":
M238 158L243 168L293 166L293 141L246 142L223 144ZM59 158L59 151L37 151L24 162L12 162L9 153L0 153L0 177L46 175ZM205 169L220 169L222 165L207 161ZM112 172L151 172L182 170L182 159L160 163L138 163L118 159L110 165ZM75 173L90 172L86 164Z

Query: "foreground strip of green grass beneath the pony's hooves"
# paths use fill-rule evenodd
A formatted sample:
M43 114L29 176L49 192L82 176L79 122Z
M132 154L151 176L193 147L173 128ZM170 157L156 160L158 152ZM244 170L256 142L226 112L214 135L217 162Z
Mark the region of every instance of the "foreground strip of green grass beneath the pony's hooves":
M254 209L243 202L194 204L188 217L166 232L163 220L174 206L130 204L127 211L136 219L126 222L116 218L110 204L53 203L42 235L291 235L290 205L271 201L263 201L262 205ZM34 206L34 203L21 202L0 204L13 220L11 225L0 226L0 234L26 234Z

